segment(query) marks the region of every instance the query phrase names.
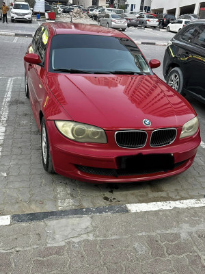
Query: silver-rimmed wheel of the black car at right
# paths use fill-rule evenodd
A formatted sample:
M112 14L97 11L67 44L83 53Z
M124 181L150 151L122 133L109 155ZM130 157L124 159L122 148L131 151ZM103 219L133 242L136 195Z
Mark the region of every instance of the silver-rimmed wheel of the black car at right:
M167 84L180 93L180 95L185 95L182 91L184 86L184 77L180 68L176 67L169 71L169 74L167 75Z

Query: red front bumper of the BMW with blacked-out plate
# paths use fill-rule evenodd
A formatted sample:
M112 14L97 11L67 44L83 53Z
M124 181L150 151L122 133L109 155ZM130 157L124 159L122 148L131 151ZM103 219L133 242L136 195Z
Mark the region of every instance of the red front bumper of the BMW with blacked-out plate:
M175 145L172 143L155 148L146 145L141 149L125 149L116 145L114 132L107 132L107 144L82 144L62 136L53 121L47 121L46 127L55 172L83 182L141 182L177 175L191 166L200 145L200 130L193 138L176 142ZM158 155L174 158L174 166L170 169L148 171L135 171L135 168L129 169L128 166L126 169L127 166L123 166L127 158L129 160L131 157L135 159L136 155L149 157L154 154L156 158Z

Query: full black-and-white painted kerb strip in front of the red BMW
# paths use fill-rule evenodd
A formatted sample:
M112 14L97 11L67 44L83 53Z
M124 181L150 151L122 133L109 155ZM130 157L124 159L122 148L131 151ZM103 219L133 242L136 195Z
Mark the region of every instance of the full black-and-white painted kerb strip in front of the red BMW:
M0 216L1 225L14 225L15 223L29 223L33 221L45 221L61 219L65 217L93 216L100 214L123 214L150 212L159 210L173 210L176 208L205 208L205 199L188 199L179 201L162 201L150 203L131 203L119 206L102 206L98 208L79 208L72 210L59 210L50 212L36 212L25 214L13 214Z

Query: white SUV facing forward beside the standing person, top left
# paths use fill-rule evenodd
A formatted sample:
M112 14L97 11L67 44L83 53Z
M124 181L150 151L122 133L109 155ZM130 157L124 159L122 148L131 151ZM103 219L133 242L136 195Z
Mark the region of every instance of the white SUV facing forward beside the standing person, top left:
M32 23L32 10L27 2L15 2L11 10L11 21Z

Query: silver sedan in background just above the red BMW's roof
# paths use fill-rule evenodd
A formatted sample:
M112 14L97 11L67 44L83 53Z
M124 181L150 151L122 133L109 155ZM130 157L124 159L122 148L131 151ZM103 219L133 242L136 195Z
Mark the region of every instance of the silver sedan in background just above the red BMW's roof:
M127 27L126 20L120 14L107 13L99 19L99 25L103 27L113 27L114 29L122 29L124 32Z

